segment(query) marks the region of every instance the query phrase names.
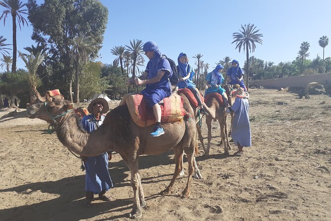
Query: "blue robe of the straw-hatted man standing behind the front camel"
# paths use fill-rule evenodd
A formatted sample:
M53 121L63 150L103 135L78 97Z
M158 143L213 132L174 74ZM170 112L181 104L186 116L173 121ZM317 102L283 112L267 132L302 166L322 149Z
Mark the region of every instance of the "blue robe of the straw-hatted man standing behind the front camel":
M93 114L82 118L82 125L87 132L96 130L103 122L105 116L101 115L100 120L96 121ZM85 160L85 190L99 194L101 190L109 190L113 187L108 172L108 154L103 153L95 157L87 157Z

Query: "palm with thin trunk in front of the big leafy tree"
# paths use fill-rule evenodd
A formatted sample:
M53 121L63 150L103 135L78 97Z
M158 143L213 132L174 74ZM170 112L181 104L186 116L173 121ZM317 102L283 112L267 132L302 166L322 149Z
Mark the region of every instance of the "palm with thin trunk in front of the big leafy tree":
M79 35L71 42L71 53L75 59L75 80L76 80L76 93L75 103L79 102L79 75L84 64L89 60L90 55L94 52L93 43L89 38Z

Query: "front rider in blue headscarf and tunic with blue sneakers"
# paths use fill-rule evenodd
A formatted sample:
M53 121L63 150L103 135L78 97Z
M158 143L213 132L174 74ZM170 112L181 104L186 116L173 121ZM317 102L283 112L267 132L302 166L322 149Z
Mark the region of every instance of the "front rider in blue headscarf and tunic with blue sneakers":
M148 57L146 69L142 76L135 79L136 85L146 85L141 94L147 105L153 109L156 124L150 133L152 137L164 134L161 126L161 108L158 104L161 100L171 96L171 83L169 78L172 76L172 69L166 58L161 58L161 53L155 42L146 42L142 50Z

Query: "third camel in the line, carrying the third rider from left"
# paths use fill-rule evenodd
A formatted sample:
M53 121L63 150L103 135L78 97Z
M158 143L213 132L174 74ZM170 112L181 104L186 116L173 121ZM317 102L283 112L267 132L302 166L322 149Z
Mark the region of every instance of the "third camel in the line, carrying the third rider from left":
M226 155L229 155L229 150L231 150L231 145L229 143L228 136L226 136L226 123L227 123L227 112L224 106L222 106L218 100L213 96L206 102L207 107L209 108L209 111L212 112L213 114L209 114L206 116L206 124L208 128L208 144L207 144L207 149L204 148L203 145L203 137L202 135L199 134L199 140L202 143L202 147L204 150L204 156L209 158L209 150L210 150L210 141L211 141L211 122L213 119L217 119L219 124L220 124L220 129L221 129L221 138L222 138L222 143L224 145L224 153ZM215 118L213 118L212 115L215 114ZM198 132L201 132L197 130ZM226 142L225 142L226 141Z

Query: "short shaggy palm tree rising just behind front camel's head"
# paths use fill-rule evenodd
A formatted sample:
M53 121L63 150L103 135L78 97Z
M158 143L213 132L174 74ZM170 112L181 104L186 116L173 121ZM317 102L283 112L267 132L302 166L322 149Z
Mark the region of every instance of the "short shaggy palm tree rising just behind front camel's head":
M25 63L25 67L28 69L28 74L23 75L23 77L27 80L29 86L30 86L30 91L32 91L32 88L38 88L41 83L42 79L37 74L37 69L40 64L44 62L45 55L42 53L37 53L37 55L33 55L32 53L30 55L18 52L18 55L22 58L22 60ZM33 94L32 92L30 93L30 101L33 102Z

